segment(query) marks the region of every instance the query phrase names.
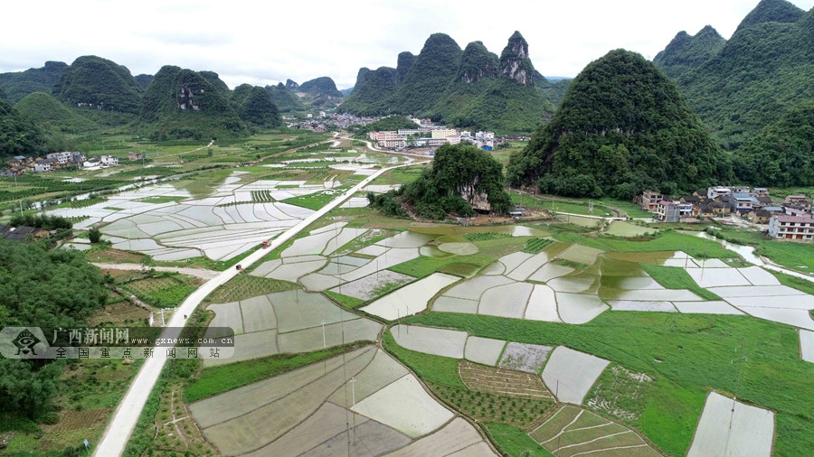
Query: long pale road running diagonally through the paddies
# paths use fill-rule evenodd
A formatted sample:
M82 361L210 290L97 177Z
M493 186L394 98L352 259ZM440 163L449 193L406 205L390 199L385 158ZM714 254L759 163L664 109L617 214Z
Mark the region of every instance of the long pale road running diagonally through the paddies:
M296 226L288 229L279 237L272 240L268 249L259 249L251 253L250 256L247 256L245 259L241 260L241 265L243 267L251 266L260 260L260 258L268 254L271 250L279 247L281 244L297 235L300 231L307 228L315 220L327 214L328 211L341 205L344 201L349 199L357 191L362 190L364 186L372 182L382 173L392 170L393 168L399 168L412 164L415 163L405 163L389 168L383 168L382 170L368 176L364 179L364 181L359 182L352 189L345 191L345 193L337 197L334 201L328 203L321 210L317 210L317 212L308 216L307 219L303 219ZM191 315L198 304L204 300L206 295L211 294L213 290L232 279L232 277L235 275L238 275L238 273L239 272L236 269L230 268L229 270L222 272L220 275L217 275L213 279L206 282L193 294L187 297L184 303L181 303L181 306L178 307L178 310L175 312L170 322L167 322L167 330L162 333L162 338L177 337L179 331L173 332L172 329L179 329L184 326L185 314ZM156 351L155 357L153 359L147 359L144 362L144 365L141 366L141 369L138 370L136 378L130 384L128 393L125 394L124 398L121 400L121 403L118 404L116 411L113 413L113 419L110 420L107 428L105 429L105 433L102 435L101 440L99 441L99 445L96 446L96 449L93 452L94 456L118 456L124 452L130 434L133 433L133 429L136 427L138 416L141 415L141 410L144 409L144 405L147 403L147 397L150 395L150 392L156 385L156 380L158 379L158 375L161 374L162 368L164 368L164 364L166 363L165 354L165 351Z

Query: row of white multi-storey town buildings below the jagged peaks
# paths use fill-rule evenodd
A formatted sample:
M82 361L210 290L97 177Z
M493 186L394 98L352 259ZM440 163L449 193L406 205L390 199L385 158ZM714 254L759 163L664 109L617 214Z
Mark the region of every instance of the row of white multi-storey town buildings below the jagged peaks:
M491 151L495 147L495 134L492 132L472 132L454 128L419 126L383 132L369 132L367 137L384 149L401 150L404 147L433 147L446 143L459 145L462 141Z

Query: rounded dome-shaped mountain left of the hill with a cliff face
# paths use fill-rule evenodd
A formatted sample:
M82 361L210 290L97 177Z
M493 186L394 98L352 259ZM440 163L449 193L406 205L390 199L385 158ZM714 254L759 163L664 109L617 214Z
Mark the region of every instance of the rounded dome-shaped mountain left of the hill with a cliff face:
M62 70L53 95L76 107L136 114L141 86L127 67L97 56L82 56Z

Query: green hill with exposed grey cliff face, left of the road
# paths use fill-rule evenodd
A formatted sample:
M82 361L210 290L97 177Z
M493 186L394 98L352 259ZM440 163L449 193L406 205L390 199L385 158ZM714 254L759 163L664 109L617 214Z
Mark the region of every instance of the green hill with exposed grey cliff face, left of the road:
M145 90L140 129L156 139L245 134L240 117L209 76L162 67Z

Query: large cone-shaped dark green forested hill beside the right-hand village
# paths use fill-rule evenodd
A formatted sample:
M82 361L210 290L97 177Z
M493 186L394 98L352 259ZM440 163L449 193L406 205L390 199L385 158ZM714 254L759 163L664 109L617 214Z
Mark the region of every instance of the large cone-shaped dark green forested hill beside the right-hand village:
M639 54L615 50L573 79L507 174L546 192L629 199L724 182L731 167L675 84Z

